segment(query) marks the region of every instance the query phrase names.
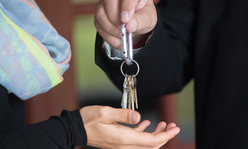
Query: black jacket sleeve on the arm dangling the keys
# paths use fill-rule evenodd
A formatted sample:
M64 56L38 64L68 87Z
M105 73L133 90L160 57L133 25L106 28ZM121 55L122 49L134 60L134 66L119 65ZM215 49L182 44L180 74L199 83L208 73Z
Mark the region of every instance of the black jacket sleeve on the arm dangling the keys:
M157 8L158 23L145 46L134 56L140 66L137 76L139 99L157 99L180 91L193 77L194 22L196 1L162 0ZM113 61L102 48L103 39L97 34L95 62L114 84L122 89L122 61ZM124 67L128 74L136 73L135 64Z

